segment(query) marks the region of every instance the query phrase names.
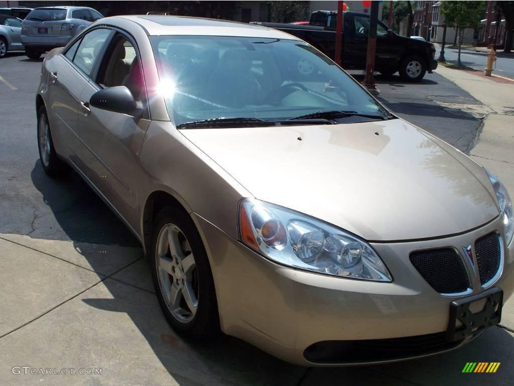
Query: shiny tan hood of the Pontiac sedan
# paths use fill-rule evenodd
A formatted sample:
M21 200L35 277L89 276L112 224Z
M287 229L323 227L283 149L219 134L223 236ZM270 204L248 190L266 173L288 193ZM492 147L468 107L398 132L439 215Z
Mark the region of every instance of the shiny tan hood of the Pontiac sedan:
M255 198L370 241L461 233L499 214L480 165L401 119L181 133Z

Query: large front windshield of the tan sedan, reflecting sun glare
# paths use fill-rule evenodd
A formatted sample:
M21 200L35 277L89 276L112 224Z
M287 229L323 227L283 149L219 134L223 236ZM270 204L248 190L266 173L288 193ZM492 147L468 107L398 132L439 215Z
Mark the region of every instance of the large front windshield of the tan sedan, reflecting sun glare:
M277 121L338 111L368 115L360 120L388 115L350 76L301 41L154 36L151 42L160 92L177 126L217 118Z

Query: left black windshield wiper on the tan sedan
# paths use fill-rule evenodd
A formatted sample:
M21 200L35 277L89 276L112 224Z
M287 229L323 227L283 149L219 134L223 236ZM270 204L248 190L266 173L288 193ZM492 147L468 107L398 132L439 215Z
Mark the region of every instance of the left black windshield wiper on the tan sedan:
M282 125L332 125L333 121L324 118L302 118L286 120L266 120L260 118L213 118L185 122L177 129L200 129L207 127L269 127Z

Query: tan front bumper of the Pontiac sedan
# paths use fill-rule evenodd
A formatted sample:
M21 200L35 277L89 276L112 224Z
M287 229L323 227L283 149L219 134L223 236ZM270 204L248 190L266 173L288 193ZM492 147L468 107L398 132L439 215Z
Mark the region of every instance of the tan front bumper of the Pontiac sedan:
M498 217L464 235L429 241L375 243L373 247L394 278L392 283L377 283L280 266L205 219L194 214L193 219L209 255L221 326L226 334L292 363L325 366L396 361L444 352L469 342L473 337L443 344L441 334L448 328L450 304L462 296L437 293L412 266L409 253L449 245L460 248L471 240L503 229ZM504 248L503 273L491 286L504 291L504 302L514 291L513 260L514 242L511 242ZM480 282L478 286L473 282L470 295L483 291ZM431 340L434 345L427 346L425 351L396 357L371 355L358 357L357 361L323 362L306 359L306 356L316 357L309 356L308 347L310 350L314 347L315 351L320 347L325 351L333 349L325 343L327 341L335 341L336 349L340 349L356 341L377 347L388 342L384 340L411 346L418 346L420 340Z

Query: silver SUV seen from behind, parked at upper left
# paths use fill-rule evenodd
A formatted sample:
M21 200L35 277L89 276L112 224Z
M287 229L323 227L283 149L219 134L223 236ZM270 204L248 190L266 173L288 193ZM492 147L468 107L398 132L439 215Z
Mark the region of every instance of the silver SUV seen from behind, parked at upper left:
M30 59L43 52L63 47L89 24L103 15L88 7L34 8L22 23L22 43Z

